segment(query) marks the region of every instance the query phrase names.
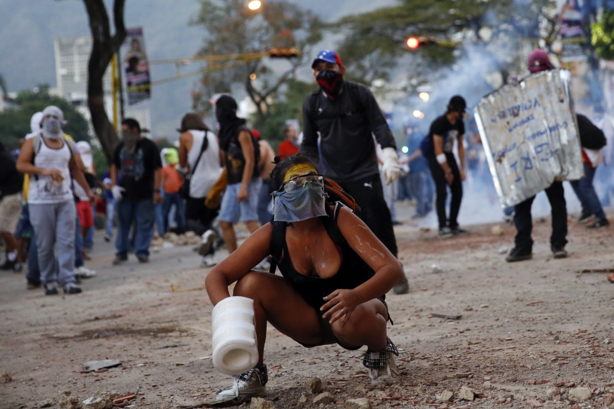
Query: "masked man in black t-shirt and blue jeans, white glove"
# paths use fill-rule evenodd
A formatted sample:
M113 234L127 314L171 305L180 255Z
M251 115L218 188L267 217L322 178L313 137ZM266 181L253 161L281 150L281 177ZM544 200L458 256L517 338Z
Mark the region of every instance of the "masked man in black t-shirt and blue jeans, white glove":
M141 136L141 126L136 120L123 120L122 134L122 142L115 148L111 164L111 193L117 203L115 210L119 216L115 240L117 253L113 264L120 264L128 259L128 233L134 220L136 258L139 262L147 262L149 243L153 235L155 205L162 201L162 161L155 143Z

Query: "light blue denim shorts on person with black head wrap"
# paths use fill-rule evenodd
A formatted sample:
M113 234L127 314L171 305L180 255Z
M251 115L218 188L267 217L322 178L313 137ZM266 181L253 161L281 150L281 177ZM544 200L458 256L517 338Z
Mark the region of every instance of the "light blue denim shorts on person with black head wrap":
M227 221L228 223L236 224L241 221L258 221L258 195L262 179L255 177L247 185L247 200L237 202L236 197L239 194L241 183L233 183L226 187L226 191L222 196L222 204L220 205L220 214L217 216L219 221Z

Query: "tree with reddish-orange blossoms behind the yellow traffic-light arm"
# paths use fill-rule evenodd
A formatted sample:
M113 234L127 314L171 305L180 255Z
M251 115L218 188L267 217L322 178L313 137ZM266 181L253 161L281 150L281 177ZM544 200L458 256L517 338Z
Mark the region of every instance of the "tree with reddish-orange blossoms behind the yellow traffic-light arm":
M268 58L258 58L206 72L201 79L203 91L193 92L195 107L208 113L208 96L228 93L233 85L244 86L257 109L256 128L262 128L271 115L270 105L281 86L311 58L311 47L322 39L323 28L319 18L286 0L266 1L256 11L249 10L244 0L201 0L200 13L192 24L202 26L206 32L198 55L263 53L273 48L299 50L297 58L286 62L273 64ZM250 78L254 74L255 80Z

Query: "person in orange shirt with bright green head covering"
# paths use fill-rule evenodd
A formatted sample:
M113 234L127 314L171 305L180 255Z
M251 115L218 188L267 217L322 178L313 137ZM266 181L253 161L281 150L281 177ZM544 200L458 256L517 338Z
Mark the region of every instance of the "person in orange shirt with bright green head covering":
M175 205L175 221L177 232L182 233L185 229L185 202L179 196L179 188L183 184L183 175L177 169L179 155L175 148L169 148L164 155L166 166L162 168L162 187L164 189L164 201L162 202L162 215L164 218L164 231L168 231L168 214Z

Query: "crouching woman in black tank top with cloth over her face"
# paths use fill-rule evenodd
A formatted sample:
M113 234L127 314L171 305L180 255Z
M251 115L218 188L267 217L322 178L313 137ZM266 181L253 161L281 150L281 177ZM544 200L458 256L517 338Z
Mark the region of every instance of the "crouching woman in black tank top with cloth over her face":
M241 402L266 394L264 364L266 323L311 348L338 343L346 350L367 345L363 365L373 384L397 377L384 294L402 277L402 267L365 223L325 193L324 178L301 154L271 172L274 220L252 234L241 247L209 272L206 288L216 305L233 296L254 300L258 341L257 366L235 375L235 384L218 402ZM272 255L281 276L252 271Z

